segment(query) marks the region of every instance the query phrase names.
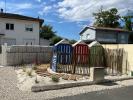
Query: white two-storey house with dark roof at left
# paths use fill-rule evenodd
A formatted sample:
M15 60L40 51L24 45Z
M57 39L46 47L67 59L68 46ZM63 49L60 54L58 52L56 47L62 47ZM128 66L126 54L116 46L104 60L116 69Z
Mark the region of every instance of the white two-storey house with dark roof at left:
M44 20L0 12L0 44L39 45L40 26Z

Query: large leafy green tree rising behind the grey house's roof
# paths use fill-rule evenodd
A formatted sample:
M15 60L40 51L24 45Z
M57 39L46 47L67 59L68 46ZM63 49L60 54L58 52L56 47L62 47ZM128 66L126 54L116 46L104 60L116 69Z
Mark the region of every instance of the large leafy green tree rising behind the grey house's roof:
M112 8L110 10L100 10L98 13L93 13L96 21L94 22L94 26L98 27L119 27L119 19L118 10L116 8Z

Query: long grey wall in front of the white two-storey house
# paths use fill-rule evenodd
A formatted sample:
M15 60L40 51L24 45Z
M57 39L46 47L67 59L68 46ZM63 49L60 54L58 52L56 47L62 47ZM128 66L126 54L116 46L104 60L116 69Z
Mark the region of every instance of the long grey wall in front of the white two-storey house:
M31 64L31 63L50 63L52 56L51 46L24 46L2 45L0 63L4 66Z

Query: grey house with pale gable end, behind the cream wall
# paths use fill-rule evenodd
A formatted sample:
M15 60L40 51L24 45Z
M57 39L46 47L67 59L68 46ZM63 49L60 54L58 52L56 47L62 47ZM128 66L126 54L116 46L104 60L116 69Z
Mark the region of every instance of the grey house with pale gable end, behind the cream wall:
M105 28L105 27L85 27L79 34L80 39L86 43L94 40L100 43L128 43L128 38L131 31L126 31L119 28Z

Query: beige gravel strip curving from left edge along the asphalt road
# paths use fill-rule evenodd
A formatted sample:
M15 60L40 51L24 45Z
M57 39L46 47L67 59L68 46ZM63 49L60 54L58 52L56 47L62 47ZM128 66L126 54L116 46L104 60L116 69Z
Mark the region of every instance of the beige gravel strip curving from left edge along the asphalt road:
M16 87L17 76L14 69L11 67L0 68L0 100L45 100L131 85L133 85L133 80L126 80L113 84L90 85L38 93L23 92Z

